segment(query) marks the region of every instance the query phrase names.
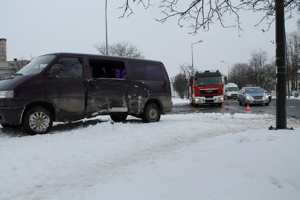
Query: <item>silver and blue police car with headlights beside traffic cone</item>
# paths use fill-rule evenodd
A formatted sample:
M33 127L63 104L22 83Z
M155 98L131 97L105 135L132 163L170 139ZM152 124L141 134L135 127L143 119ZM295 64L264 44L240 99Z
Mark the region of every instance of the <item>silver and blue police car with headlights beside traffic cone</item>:
M269 105L269 97L258 85L244 85L238 92L239 105L244 104L265 104Z

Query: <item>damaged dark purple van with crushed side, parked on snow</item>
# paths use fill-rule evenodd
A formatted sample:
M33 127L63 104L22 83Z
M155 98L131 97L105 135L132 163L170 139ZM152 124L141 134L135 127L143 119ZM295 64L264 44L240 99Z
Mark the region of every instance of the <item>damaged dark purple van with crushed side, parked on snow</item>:
M0 124L30 135L49 132L53 121L131 115L150 123L170 111L170 80L158 61L53 53L0 81Z

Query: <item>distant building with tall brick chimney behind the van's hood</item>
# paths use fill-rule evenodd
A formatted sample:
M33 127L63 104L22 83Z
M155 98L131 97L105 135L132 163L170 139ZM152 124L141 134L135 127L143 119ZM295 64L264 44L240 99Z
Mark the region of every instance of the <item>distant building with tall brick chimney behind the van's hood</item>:
M6 39L0 39L0 80L11 77L25 65L27 65L29 60L17 60L7 61L6 60Z

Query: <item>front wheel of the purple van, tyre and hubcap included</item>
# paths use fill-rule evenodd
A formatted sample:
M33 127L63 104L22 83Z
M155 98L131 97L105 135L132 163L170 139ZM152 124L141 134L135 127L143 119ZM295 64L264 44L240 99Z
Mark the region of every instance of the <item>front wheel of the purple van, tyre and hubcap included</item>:
M46 134L53 124L52 114L44 107L30 108L22 120L23 129L29 135Z

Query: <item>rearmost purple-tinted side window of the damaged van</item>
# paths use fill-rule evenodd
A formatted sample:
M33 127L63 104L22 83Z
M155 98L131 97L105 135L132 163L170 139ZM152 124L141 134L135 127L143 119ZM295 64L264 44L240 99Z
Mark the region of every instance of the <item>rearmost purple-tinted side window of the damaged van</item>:
M161 66L150 62L128 61L132 80L164 80Z

